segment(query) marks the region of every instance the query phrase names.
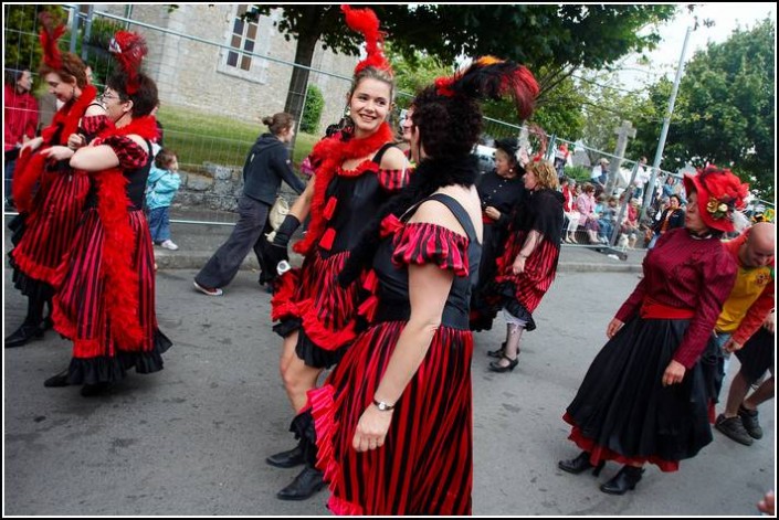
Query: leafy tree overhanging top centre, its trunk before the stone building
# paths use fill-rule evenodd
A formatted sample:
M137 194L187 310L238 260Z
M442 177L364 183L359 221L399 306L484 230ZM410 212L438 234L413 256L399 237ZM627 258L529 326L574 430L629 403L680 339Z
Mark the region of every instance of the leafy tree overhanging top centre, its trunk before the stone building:
M310 66L317 43L357 54L361 40L345 30L339 6L256 4L250 15L269 14L275 8L283 9L276 28L287 40L297 40L295 63ZM495 54L534 71L545 67L538 76L539 108L577 68L601 68L628 53L652 49L660 41L652 24L676 11L674 6L648 4L375 4L372 9L410 63L419 51L441 63L454 63L463 54ZM645 28L648 32L642 31ZM307 83L308 70L296 67L285 112L301 114L303 98L295 93L304 92Z

